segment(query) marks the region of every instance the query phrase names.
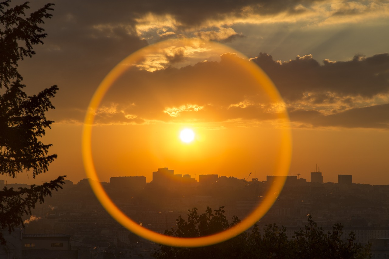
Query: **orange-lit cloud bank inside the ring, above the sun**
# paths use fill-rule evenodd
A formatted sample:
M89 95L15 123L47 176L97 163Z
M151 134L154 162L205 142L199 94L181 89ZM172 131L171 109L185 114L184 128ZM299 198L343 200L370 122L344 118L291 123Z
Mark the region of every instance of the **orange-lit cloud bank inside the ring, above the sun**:
M258 123L277 119L286 110L281 100L272 100L252 72L240 64L249 61L235 53L219 55L219 61L175 68L168 64L190 58L193 48L158 50L152 57L164 59L165 68L146 70L144 60L140 61L142 65L129 66L109 89L100 108L93 111L96 124Z

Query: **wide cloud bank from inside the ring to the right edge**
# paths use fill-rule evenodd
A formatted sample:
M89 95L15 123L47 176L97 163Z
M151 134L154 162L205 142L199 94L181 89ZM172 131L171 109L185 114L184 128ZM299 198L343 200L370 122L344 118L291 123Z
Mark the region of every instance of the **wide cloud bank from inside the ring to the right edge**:
M160 49L154 58L165 60L161 68L130 68L95 111L96 124L246 125L277 120L287 109L297 126L388 128L388 54L356 55L349 61L326 59L321 64L310 54L289 61L275 61L265 53L251 58L273 80L282 102L270 100L258 89L252 75L236 65L243 59L234 53L220 55L219 61L172 66L195 52L180 46Z

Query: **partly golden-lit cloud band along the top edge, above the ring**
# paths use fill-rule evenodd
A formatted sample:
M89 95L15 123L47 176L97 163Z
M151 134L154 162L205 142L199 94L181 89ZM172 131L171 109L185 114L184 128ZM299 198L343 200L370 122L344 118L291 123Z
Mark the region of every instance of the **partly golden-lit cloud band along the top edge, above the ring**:
M358 23L389 16L389 3L373 0L354 2L325 1L177 1L145 0L110 1L109 4L53 1L54 17L45 25L51 39L46 44L55 49L84 49L85 51L119 50L118 45L134 50L145 42L166 37L202 37L231 41L242 37L235 32L237 25L298 23L298 26L324 26L339 23ZM44 1L31 3L32 9ZM77 8L75 8L77 7ZM88 16L85 13L88 13ZM102 41L102 42L100 42ZM89 44L92 43L93 44ZM126 44L121 44L125 42ZM131 43L131 44L129 44ZM115 44L115 48L110 48ZM84 48L89 46L90 49ZM113 47L113 46L112 46ZM51 47L53 49L53 47ZM96 53L96 52L95 52ZM114 53L112 53L114 54Z

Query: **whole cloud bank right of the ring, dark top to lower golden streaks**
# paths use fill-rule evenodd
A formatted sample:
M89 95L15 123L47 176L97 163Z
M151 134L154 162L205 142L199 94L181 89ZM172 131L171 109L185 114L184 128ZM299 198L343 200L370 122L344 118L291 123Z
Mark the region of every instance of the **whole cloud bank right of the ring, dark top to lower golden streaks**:
M388 128L389 54L320 65L312 55L286 62L251 59L273 80L291 120L311 126ZM369 115L370 114L370 115Z

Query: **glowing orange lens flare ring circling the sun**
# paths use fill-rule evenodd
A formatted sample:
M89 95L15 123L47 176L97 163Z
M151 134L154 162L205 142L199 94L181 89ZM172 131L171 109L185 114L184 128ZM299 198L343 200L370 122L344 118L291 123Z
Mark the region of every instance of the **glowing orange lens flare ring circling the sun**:
M179 238L173 236L166 236L151 231L142 226L139 226L137 222L132 221L119 208L117 208L116 205L109 198L109 196L101 186L100 181L98 180L98 176L92 158L91 136L92 136L93 121L95 118L94 111L100 105L102 98L104 97L105 93L108 91L112 83L128 68L128 65L123 65L123 64L135 63L136 61L139 60L139 58L142 57L142 54L145 51L149 51L150 49L151 50L159 49L161 46L163 46L163 44L166 43L169 44L171 42L171 44L173 44L173 43L180 42L181 44L182 43L193 44L194 41L198 42L199 40L175 39L175 40L167 40L165 42L159 42L157 44L140 49L139 51L123 59L121 63L116 65L108 73L108 75L103 79L101 84L96 89L95 94L93 95L89 103L89 107L86 112L86 116L84 120L83 131L82 131L82 158L84 161L86 175L88 176L89 179L97 180L97 181L89 180L89 184L91 185L93 192L95 193L97 199L103 205L105 210L107 210L107 212L109 212L109 214L114 219L116 219L117 222L119 222L125 228L137 234L138 236L141 236L142 238L145 238L155 243L176 246L176 247L200 247L200 246L213 245L216 243L226 241L244 232L245 230L250 228L253 224L255 224L261 217L263 217L263 215L266 214L266 212L270 209L270 207L272 207L273 203L275 202L279 193L281 192L286 179L286 177L284 179L282 179L282 177L277 177L277 179L272 184L272 186L268 190L268 193L261 201L261 203L258 205L258 207L249 216L243 219L239 224L223 232L216 233L214 235L196 237L196 238ZM221 44L216 44L216 43L208 42L207 44L209 45L215 44L219 47L221 46ZM170 45L170 46L175 46L175 45ZM228 49L228 47L225 48ZM271 100L282 101L282 98L280 97L273 82L267 77L267 75L258 66L256 66L253 62L249 62L243 59L240 60L239 65L244 66L248 71L251 72L251 74L258 81L259 85L261 87L264 87L266 93L269 94ZM286 120L287 126L282 129L282 133L281 133L282 144L280 145L279 156L282 159L280 161L280 165L278 165L278 168L275 170L276 172L273 173L275 173L275 175L286 176L287 172L289 171L289 165L291 160L291 132L288 127L289 117L287 115L286 110L279 115L279 119Z

